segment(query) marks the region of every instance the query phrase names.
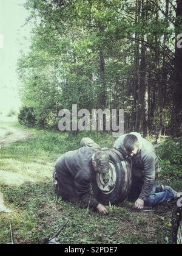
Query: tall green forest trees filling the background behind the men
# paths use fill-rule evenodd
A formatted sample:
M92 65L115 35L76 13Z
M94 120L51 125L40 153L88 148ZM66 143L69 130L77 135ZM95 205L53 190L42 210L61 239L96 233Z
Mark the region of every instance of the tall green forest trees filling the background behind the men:
M124 109L125 132L180 137L181 0L27 0L18 61L27 126L58 129L62 108Z

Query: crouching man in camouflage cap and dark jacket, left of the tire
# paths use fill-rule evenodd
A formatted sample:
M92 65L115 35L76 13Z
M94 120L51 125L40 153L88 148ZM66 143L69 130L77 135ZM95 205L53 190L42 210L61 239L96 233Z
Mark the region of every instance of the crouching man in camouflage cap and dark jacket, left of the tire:
M98 144L90 138L81 140L81 148L67 152L55 165L53 178L55 191L64 201L81 201L99 213L108 211L92 194L91 183L96 173L109 171L109 155L101 151Z

